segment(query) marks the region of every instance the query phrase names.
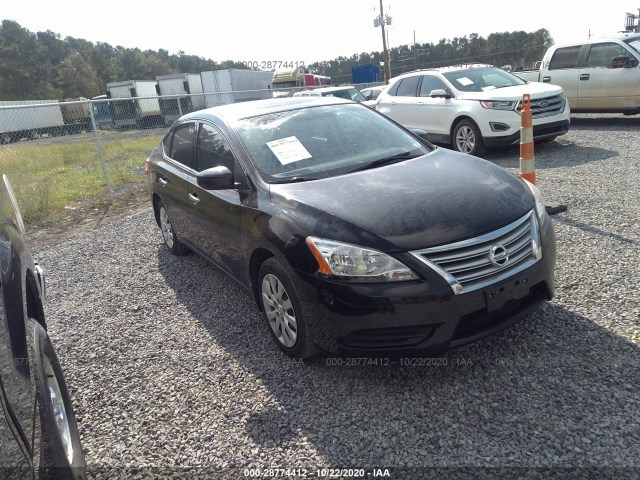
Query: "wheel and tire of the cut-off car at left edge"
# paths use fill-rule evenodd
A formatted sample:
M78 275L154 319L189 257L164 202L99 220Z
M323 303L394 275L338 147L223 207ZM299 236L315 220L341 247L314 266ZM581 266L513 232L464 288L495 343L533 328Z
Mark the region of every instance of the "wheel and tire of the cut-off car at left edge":
M41 479L84 479L86 461L71 397L51 340L42 325L28 320L27 343L40 424Z

